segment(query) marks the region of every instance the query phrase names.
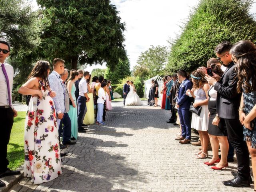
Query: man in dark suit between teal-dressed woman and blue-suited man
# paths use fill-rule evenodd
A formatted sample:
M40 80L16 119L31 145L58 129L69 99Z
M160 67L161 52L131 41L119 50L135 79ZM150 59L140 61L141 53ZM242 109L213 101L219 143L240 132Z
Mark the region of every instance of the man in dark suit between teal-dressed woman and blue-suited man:
M171 112L172 112L172 116L171 118L169 119L169 121L166 121L167 123L176 123L176 111L175 111L175 102L176 100L174 101L174 98L176 97L176 90L179 88L180 86L180 83L179 83L179 80L178 80L178 76L177 76L177 73L174 73L172 75L172 79L173 79L173 85L172 85L172 88L170 90L170 93L167 94L167 98L170 99L170 103L171 103ZM176 97L177 98L177 97Z

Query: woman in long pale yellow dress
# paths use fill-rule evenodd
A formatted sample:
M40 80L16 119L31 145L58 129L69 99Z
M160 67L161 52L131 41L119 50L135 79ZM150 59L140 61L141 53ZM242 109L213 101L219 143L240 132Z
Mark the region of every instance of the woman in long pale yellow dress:
M87 112L84 116L84 124L86 125L92 125L95 122L94 119L94 102L93 102L93 92L94 88L90 84L91 75L90 78L87 80L87 86L88 86L88 97L90 100L86 102Z

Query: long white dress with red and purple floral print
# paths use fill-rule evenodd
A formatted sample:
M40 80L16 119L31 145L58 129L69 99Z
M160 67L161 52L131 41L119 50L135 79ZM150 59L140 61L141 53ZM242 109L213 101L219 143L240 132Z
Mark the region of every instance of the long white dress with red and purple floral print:
M54 102L39 80L42 99L32 96L24 131L24 176L34 184L55 179L62 173Z

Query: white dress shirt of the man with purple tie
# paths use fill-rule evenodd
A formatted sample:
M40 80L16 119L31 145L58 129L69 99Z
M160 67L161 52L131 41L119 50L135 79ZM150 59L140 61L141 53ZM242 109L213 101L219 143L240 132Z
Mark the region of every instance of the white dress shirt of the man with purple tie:
M6 78L4 76L4 72L2 70L2 63L0 63L0 106L9 105L9 98L8 98L8 91L7 91L7 84L6 84ZM10 100L12 103L12 85L13 85L13 67L7 63L4 62L4 67L9 79L10 84ZM12 105L12 108L13 105Z

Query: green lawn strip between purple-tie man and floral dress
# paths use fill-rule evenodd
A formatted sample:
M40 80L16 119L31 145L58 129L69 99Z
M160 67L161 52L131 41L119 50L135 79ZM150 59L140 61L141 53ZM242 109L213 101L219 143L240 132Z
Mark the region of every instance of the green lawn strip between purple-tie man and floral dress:
M24 163L24 125L26 112L18 111L18 116L14 118L12 133L8 144L7 158L9 168L14 170Z

